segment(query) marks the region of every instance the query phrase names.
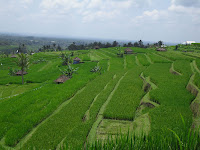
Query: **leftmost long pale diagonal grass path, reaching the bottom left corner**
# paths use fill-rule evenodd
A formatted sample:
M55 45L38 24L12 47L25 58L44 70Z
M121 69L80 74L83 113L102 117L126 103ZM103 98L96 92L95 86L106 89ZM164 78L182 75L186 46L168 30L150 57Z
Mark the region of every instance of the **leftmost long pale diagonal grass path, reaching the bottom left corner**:
M47 122L51 117L53 117L54 115L56 115L57 113L60 112L60 110L62 108L64 108L68 103L70 103L73 98L80 94L83 90L85 89L85 87L83 87L82 89L80 89L78 92L76 92L76 94L70 98L69 100L65 101L64 103L62 103L49 117L47 117L45 120L43 120L40 124L38 124L35 128L33 128L29 134L27 134L22 140L20 140L20 142L14 147L16 150L20 149L30 138L31 136L35 133L35 131L45 122ZM4 143L2 143L2 146L4 146L5 148L8 148L7 146L4 145ZM9 147L11 148L11 147Z

